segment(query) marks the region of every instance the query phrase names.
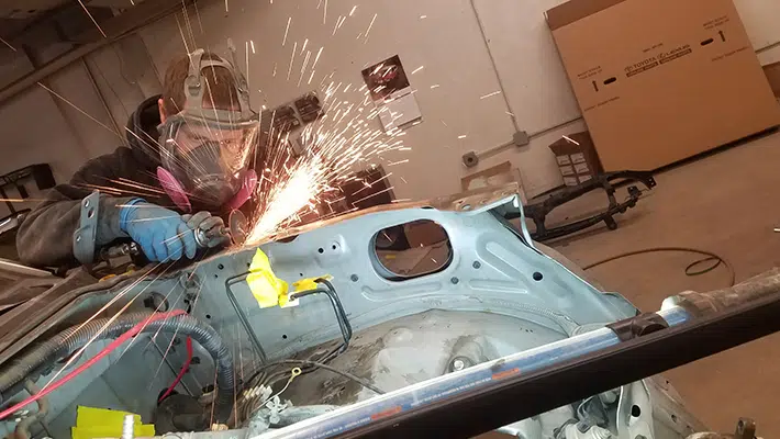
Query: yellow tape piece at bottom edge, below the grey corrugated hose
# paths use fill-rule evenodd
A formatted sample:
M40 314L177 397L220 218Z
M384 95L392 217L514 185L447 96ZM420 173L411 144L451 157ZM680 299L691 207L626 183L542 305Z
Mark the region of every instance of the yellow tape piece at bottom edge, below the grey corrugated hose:
M119 438L125 415L133 415L133 432L136 438L154 437L155 426L141 424L141 416L120 410L78 406L76 427L70 429L73 439Z

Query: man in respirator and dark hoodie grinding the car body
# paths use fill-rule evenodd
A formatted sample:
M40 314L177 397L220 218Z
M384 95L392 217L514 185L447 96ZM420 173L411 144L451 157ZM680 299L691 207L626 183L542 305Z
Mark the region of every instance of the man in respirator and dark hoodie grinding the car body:
M20 226L21 260L36 267L73 267L81 201L100 190L96 255L133 240L149 261L192 259L194 230L205 247L230 238L219 216L250 198L261 133L243 75L222 57L196 50L168 67L163 94L147 99L126 127L129 147L87 162L54 188Z

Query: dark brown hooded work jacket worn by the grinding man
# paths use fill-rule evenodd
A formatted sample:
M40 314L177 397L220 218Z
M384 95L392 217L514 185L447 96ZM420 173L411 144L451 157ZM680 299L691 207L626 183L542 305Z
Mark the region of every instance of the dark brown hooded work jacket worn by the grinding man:
M158 99L159 95L147 99L131 115L125 133L130 147L119 147L112 154L89 160L67 184L58 184L52 189L46 199L26 216L16 234L16 248L22 262L34 267L79 264L74 256L73 236L80 223L81 200L92 193L96 187L104 188L100 195L96 255L101 247L118 239L129 240L127 234L119 226L119 211L120 206L130 200L142 198L149 203L179 212L164 194L156 177L157 167L160 165L157 146L157 126L160 123ZM255 148L254 160L250 161L255 164L258 173L268 171L264 165L267 161L266 154L271 150L268 121L270 116L261 117L258 146ZM277 165L281 167L283 164ZM135 187L123 184L123 179ZM261 181L260 185L263 184L267 183ZM256 207L257 201L252 200L241 210L252 216ZM204 209L193 205L193 210Z

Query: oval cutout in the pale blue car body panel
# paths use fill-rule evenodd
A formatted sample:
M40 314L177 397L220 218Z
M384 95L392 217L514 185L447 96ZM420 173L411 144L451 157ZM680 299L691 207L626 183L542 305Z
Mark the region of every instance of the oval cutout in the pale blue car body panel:
M371 243L375 268L382 278L391 281L442 271L453 260L447 232L430 219L383 228Z

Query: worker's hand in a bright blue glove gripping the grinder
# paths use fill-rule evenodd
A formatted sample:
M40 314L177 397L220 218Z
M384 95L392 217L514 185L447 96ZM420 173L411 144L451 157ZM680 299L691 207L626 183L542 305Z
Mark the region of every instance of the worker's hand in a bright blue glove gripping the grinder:
M144 200L132 200L120 210L120 228L130 235L151 261L194 258L198 245L193 229L178 213Z

